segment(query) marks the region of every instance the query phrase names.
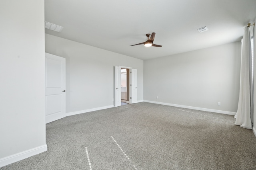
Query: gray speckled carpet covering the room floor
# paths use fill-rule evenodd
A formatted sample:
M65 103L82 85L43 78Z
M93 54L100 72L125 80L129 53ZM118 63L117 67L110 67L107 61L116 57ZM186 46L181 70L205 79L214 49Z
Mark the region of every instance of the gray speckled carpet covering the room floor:
M252 170L256 137L234 116L150 103L48 123L48 151L0 170Z

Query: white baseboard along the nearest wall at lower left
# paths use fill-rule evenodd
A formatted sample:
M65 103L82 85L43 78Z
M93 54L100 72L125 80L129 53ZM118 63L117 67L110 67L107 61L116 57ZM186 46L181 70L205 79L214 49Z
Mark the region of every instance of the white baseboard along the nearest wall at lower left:
M47 145L46 144L42 145L40 147L32 148L32 149L29 149L29 150L25 150L23 152L19 152L19 153L10 155L10 156L6 156L6 157L0 159L0 167L6 166L8 164L12 164L14 162L17 162L19 160L28 158L30 156L34 156L36 154L40 154L44 151L47 151Z

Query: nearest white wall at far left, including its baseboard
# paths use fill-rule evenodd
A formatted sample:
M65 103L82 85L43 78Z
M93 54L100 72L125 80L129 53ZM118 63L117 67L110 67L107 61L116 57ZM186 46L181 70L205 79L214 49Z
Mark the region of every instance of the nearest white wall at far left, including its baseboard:
M1 0L0 23L0 166L4 166L47 149L44 1Z

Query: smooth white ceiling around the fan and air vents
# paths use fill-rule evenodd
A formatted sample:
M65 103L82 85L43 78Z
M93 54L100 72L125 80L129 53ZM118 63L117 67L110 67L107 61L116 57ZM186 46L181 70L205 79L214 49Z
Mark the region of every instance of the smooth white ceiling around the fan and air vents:
M64 27L45 33L142 60L240 41L255 20L256 0L45 0L45 21ZM152 32L162 47L130 47Z

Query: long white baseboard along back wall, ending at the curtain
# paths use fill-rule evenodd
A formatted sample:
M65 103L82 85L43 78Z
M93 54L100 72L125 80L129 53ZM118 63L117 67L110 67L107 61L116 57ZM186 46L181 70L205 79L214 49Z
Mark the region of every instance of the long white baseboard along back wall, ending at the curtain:
M214 113L222 113L222 114L226 114L226 115L235 115L235 114L236 114L236 112L231 112L231 111L223 111L223 110L215 110L215 109L206 109L206 108L201 108L201 107L193 107L193 106L184 106L184 105L178 105L178 104L154 102L154 101L149 101L149 100L144 100L144 102L154 103L154 104L162 104L162 105L174 106L174 107L182 107L182 108L194 109L194 110L201 110L201 111L209 111L209 112L214 112Z

